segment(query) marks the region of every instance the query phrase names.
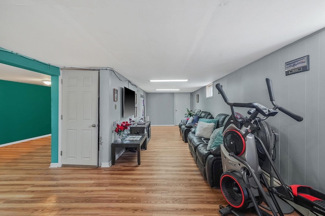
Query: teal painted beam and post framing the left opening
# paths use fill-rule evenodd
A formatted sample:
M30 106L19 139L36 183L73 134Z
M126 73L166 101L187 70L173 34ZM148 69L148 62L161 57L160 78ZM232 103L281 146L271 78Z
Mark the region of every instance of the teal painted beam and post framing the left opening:
M58 163L58 113L60 68L0 48L0 63L51 76L51 163Z

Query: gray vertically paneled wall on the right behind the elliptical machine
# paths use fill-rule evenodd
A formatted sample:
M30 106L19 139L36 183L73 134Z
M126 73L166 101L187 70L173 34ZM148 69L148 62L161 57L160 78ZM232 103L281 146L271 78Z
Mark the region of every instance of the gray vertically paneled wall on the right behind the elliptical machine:
M310 55L310 70L285 76L287 61ZM279 133L276 144L276 165L287 184L309 185L325 192L325 142L322 131L325 107L325 31L318 31L294 44L286 46L259 59L234 73L213 83L213 98L205 99L205 87L192 93L192 101L200 95L199 103L193 102L192 109L218 113L230 113L215 88L223 86L231 102L259 102L270 108L265 79L273 81L277 104L304 117L297 122L279 112L267 122ZM236 109L247 116L247 109Z

